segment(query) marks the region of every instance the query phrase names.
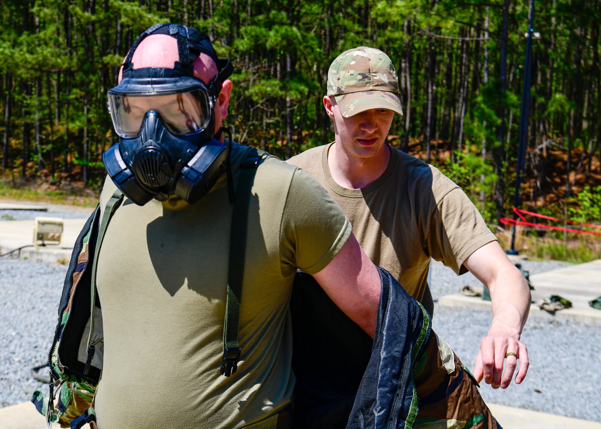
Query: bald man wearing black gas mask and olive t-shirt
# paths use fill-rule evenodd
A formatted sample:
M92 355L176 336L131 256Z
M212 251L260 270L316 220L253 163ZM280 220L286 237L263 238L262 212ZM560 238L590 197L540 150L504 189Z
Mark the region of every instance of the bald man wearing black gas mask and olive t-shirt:
M95 265L99 429L288 427L297 269L374 335L380 275L340 207L300 169L224 139L231 72L204 34L156 25L109 91L120 142L103 156L100 207L125 198ZM243 272L232 273L233 207L246 181Z

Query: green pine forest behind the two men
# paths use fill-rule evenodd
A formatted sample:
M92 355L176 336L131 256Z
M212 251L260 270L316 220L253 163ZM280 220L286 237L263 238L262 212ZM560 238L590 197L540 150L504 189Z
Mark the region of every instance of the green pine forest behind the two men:
M442 169L490 224L514 205L526 91L522 207L599 223L601 0L532 3L4 0L0 180L102 187L102 153L117 142L106 91L138 35L174 22L206 32L233 61L234 139L282 159L334 139L322 104L332 60L383 50L404 111L389 144Z

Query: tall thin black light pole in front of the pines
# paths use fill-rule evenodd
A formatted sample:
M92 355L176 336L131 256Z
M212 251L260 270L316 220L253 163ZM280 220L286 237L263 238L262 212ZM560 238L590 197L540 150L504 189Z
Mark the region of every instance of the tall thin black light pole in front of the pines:
M532 25L534 23L534 0L530 0L530 16L528 19L528 32L526 32L526 65L524 67L524 84L522 91L522 111L520 113L520 131L517 143L517 166L516 166L516 190L513 198L514 207L520 206L520 179L522 178L522 169L526 157L526 144L528 144L528 110L530 108L530 83L531 83L531 63L532 63L532 38L540 38L540 34L535 33ZM513 213L514 221L517 220L517 214ZM508 255L517 255L516 245L516 225L511 227L511 249L506 253Z

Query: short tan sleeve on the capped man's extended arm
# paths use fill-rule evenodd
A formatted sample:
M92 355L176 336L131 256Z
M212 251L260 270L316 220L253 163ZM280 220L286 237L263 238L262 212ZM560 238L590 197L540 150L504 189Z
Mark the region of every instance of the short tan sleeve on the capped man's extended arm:
M463 262L469 255L495 240L474 203L458 187L441 199L430 217L430 256L457 275L467 272Z

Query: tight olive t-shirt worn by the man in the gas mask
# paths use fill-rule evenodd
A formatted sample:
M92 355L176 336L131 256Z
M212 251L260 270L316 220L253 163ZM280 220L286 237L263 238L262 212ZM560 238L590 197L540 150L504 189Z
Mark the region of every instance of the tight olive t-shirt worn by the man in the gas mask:
M234 144L234 180L248 147ZM106 180L101 207L115 186ZM100 250L102 429L240 428L291 399L288 312L296 269L322 270L351 233L313 177L275 158L258 166L240 309L242 361L219 373L232 206L225 174L197 204L125 199Z

